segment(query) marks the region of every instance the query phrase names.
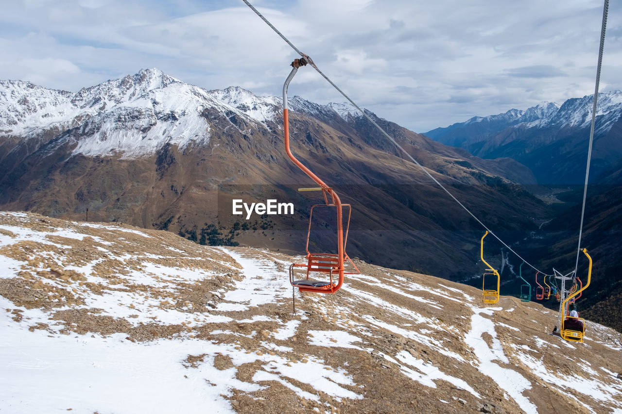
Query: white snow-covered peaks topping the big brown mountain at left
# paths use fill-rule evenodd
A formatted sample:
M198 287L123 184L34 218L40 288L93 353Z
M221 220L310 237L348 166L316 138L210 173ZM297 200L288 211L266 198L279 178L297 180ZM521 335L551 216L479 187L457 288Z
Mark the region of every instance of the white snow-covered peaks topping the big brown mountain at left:
M358 116L351 104L320 105L299 96L291 99L290 107L297 113L339 116L346 121ZM50 132L60 137L77 131L72 135L77 143L73 154L134 158L152 155L166 143L180 148L194 142L207 144L211 121L206 109L211 119L220 113L234 127L238 119L262 127L281 122L282 100L257 96L239 86L207 91L157 68L75 93L24 81L0 81L0 134L40 141L44 136L49 140Z

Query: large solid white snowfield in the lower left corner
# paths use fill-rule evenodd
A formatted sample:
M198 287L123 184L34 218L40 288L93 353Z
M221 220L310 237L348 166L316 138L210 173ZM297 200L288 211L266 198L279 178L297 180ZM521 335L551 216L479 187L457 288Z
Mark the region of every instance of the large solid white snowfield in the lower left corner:
M2 308L8 305L0 300ZM144 346L124 334L50 337L25 326L16 329L7 315L0 313L0 409L7 412L204 413L209 401L211 412L228 413L233 410L221 394L259 388L209 364L184 368L188 354L223 351L206 341L159 340ZM207 385L213 378L218 383Z

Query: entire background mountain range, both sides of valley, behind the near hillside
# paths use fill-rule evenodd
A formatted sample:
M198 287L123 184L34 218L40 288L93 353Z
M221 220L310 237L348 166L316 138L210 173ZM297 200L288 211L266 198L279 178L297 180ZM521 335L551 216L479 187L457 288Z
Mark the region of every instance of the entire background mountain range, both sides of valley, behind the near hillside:
M585 311L618 329L610 318L622 294L622 195L616 184L622 182L621 100L620 93L600 99L592 177L601 173L605 186L588 193L584 231L598 292L585 299ZM483 229L371 122L349 104L292 96L290 108L293 152L353 206L351 256L452 280L481 280ZM547 204L524 185L582 182L590 109L587 96L428 133L464 149L367 114L496 234L520 241L527 259L570 267L582 193L555 193L564 201L558 203L542 197L546 188L538 186L543 200L555 201ZM310 205L319 200L296 191L313 183L287 159L282 134L281 98L236 86L205 90L156 69L78 92L0 81L0 209L73 220L85 220L88 209L90 221L167 229L202 244L300 254ZM505 157L481 159L466 149ZM247 222L231 214L233 198L291 201L295 214ZM327 229L329 223L321 218L314 226ZM332 248L332 237L328 230L317 232L313 249ZM487 239L488 260L502 269L500 249ZM502 277L502 292L516 293L510 270ZM613 305L603 311L603 303Z

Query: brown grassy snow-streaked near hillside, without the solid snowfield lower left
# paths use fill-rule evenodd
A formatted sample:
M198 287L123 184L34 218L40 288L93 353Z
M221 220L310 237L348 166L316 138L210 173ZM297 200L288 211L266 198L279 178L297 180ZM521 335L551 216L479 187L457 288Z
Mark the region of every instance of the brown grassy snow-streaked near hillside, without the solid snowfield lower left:
M55 234L25 240L24 234L45 232ZM615 377L622 372L622 335L588 321L585 344L566 343L548 334L556 315L536 303L503 297L485 308L475 288L356 261L361 275L349 276L336 295L297 293L292 314L286 269L300 259L287 255L32 213L0 214L0 234L7 241L0 255L22 263L0 278L16 323L29 326L27 309L38 308L50 319L30 329L51 335L218 344L221 352L188 355L184 366L234 368L249 383L267 371L317 395L304 398L282 382L257 380L269 387L234 389L227 397L237 412L519 413L531 404L539 413L587 413L622 404ZM234 299L242 291L243 299ZM90 305L116 292L130 302L118 300L111 310ZM160 319L164 310L177 321ZM234 364L239 353L251 362ZM334 386L358 397L338 398L304 382L304 374L288 374L317 366L351 375L355 385ZM518 375L528 387L516 395L518 383L508 388L507 379Z

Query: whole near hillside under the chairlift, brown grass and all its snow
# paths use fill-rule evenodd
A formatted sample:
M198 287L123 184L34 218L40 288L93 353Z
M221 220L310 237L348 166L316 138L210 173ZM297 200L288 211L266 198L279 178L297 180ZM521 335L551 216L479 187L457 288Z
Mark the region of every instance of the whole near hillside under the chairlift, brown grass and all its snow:
M356 261L295 292L277 252L0 213L0 410L620 413L622 335Z

